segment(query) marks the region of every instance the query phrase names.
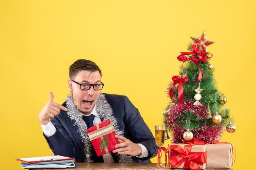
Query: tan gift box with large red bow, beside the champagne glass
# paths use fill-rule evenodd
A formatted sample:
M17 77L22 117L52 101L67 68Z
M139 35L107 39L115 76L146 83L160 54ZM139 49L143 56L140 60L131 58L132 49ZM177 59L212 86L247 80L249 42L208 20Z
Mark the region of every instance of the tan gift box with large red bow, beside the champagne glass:
M205 145L169 144L167 150L170 168L193 170L206 168Z

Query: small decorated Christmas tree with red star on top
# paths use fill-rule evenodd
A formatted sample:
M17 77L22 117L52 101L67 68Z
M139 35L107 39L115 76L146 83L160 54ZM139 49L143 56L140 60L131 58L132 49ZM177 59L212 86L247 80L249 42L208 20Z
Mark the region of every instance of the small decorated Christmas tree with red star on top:
M172 142L193 137L206 143L217 142L225 127L232 133L236 127L229 116L229 109L223 108L227 99L216 88L214 68L209 63L213 55L207 46L213 44L205 37L191 37L194 44L189 52L181 52L177 59L182 63L180 76L173 76L168 87L170 104L164 109L164 124L172 133Z

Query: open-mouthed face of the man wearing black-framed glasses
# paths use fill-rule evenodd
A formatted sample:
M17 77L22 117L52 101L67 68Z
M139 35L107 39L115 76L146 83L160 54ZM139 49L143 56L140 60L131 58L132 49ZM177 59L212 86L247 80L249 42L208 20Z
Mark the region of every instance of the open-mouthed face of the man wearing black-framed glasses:
M101 74L99 71L90 72L82 70L73 78L74 81L82 84L100 84ZM73 93L74 104L85 115L89 115L94 108L94 105L101 93L100 90L94 90L91 87L89 90L82 90L80 86L74 83L71 79L68 81L68 88Z

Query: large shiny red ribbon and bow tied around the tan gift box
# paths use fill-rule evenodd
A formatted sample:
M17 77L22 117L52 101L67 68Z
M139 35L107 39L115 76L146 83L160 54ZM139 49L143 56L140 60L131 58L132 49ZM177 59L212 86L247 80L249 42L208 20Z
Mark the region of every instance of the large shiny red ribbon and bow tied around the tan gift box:
M170 145L167 150L172 150L168 159L173 168L179 167L184 162L184 169L201 170L198 164L207 162L206 152L191 153L192 145L185 145L184 149L179 145Z

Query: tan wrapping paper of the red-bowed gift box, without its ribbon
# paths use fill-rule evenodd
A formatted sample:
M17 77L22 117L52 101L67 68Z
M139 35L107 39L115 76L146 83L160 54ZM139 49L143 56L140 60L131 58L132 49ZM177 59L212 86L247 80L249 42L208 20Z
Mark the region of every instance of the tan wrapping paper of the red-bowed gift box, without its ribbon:
M168 144L168 146L171 146L171 145L179 145L184 149L184 146L188 145L188 144ZM205 151L206 151L206 146L205 145L192 145L191 153L205 152ZM172 154L171 152L172 152L171 150L168 150L168 158L171 157L171 154ZM170 163L168 163L168 164L169 164L170 168L173 168L173 167L171 167ZM206 163L198 164L198 165L201 168L201 170L204 170L206 168ZM183 167L184 167L184 162L179 167L177 167L177 169L183 169Z

